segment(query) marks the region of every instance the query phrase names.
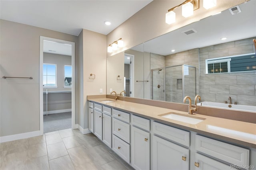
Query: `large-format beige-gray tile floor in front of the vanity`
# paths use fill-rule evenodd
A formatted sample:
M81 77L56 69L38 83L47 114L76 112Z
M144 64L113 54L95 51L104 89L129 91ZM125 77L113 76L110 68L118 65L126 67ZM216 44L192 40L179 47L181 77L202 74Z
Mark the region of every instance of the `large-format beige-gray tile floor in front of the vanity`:
M133 170L94 134L65 129L0 143L0 170Z

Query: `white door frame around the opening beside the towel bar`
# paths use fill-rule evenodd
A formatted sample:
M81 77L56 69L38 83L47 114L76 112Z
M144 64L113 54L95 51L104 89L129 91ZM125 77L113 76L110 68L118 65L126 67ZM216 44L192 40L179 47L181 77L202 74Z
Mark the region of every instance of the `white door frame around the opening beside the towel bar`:
M65 41L61 39L55 39L50 37L40 36L40 56L39 56L39 109L40 109L40 135L44 134L44 98L43 98L43 63L44 63L44 40L54 41L58 43L65 43L72 45L71 65L72 65L72 88L71 88L71 125L72 129L75 129L76 114L75 114L75 43L71 41Z

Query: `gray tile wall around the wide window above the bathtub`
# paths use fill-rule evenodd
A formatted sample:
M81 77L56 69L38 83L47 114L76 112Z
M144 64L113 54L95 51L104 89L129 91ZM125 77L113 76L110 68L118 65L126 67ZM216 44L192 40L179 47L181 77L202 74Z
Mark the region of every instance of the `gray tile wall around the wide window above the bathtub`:
M256 71L206 74L205 60L255 53L256 37L200 48L200 95L202 101L232 102L256 106Z

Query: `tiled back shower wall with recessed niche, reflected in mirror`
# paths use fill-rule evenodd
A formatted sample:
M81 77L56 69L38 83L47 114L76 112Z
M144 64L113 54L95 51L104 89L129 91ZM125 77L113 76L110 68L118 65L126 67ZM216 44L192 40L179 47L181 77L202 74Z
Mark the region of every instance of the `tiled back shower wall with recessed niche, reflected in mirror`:
M195 90L194 90L194 74L196 74L196 94L199 94L199 64L198 64L198 48L191 49L187 51L182 51L180 53L175 53L172 55L167 55L165 57L165 66L176 66L186 64L193 67L196 67L196 73L190 70L190 74L186 76L184 84L185 86L185 96L190 96L192 101L194 101ZM172 76L166 75L166 101L168 102L182 102L182 90L178 90L177 79L182 78L181 66L176 67L176 71L174 72L172 68ZM177 70L178 69L178 70ZM168 68L166 68L168 70ZM170 80L172 79L172 80ZM176 79L176 80L175 80ZM172 82L172 84L168 84L168 82ZM193 88L192 88L193 87ZM172 90L171 90L172 89ZM171 92L170 92L171 90ZM169 93L170 92L170 93Z

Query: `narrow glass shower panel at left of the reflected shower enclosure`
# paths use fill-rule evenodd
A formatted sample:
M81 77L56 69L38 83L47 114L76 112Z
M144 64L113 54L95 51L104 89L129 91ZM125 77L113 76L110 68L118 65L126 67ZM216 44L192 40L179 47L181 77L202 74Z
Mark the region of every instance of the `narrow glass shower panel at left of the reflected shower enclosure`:
M151 99L165 101L164 68L151 70Z

